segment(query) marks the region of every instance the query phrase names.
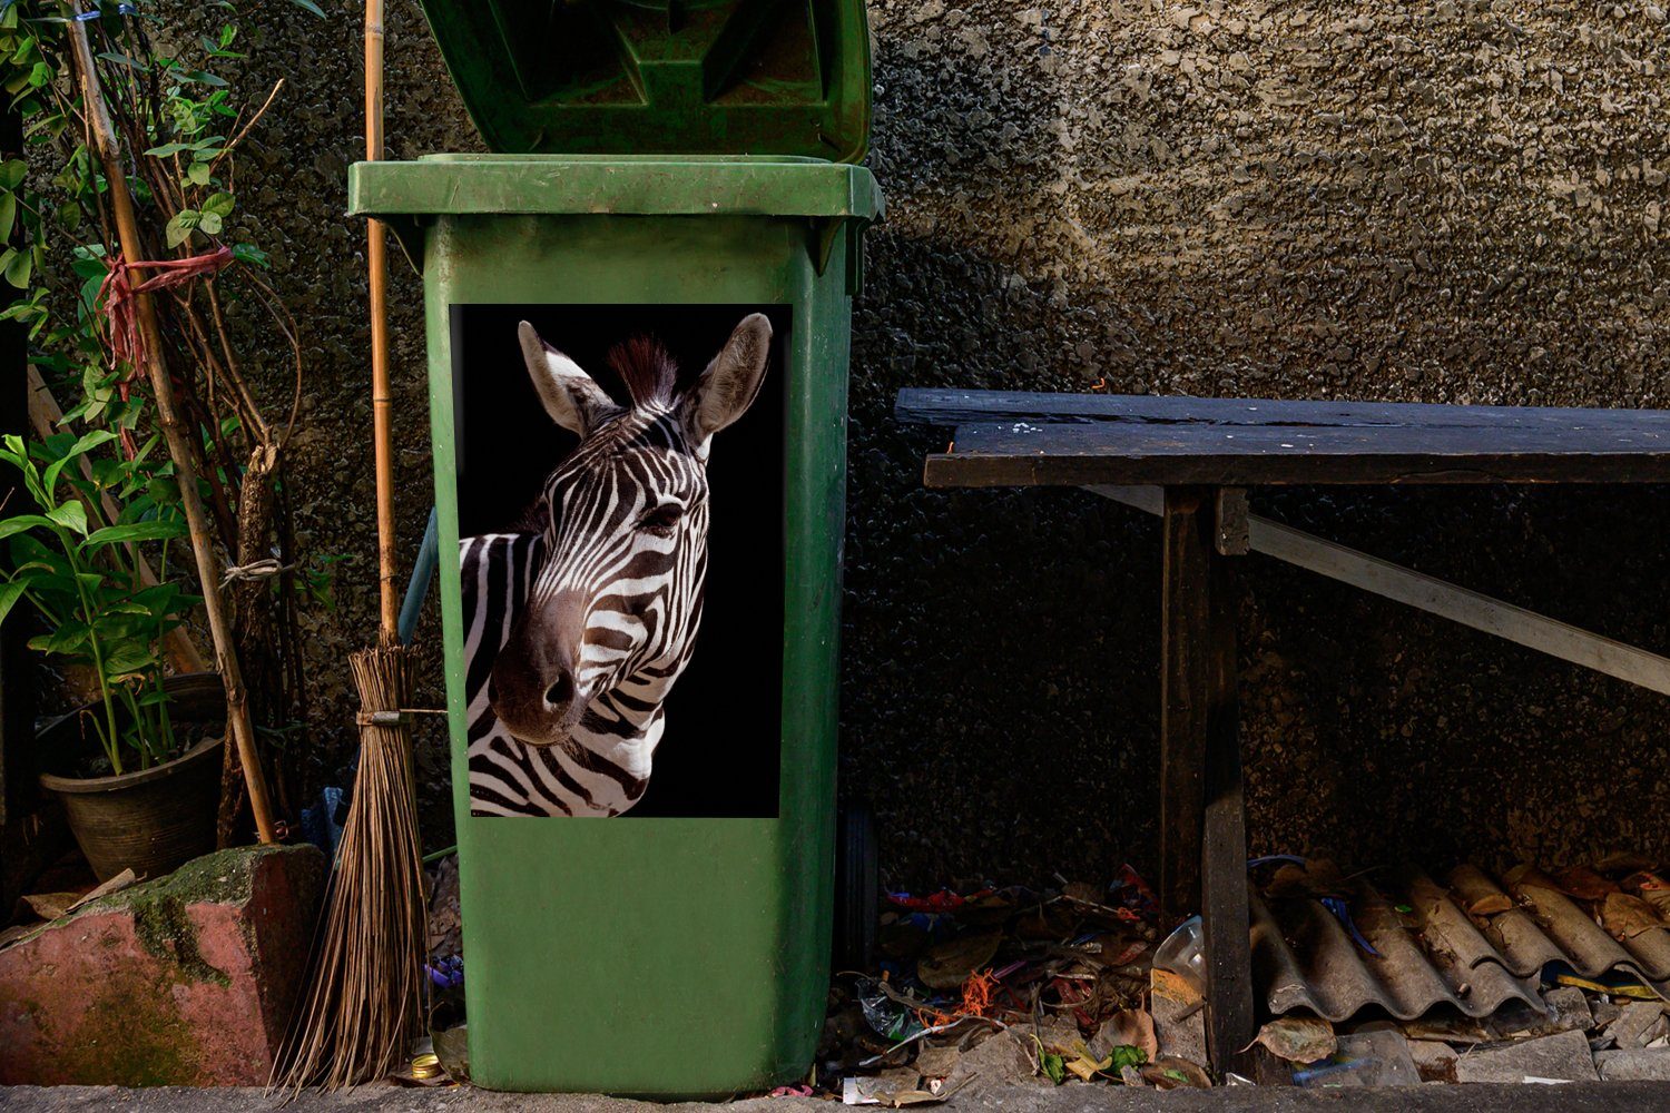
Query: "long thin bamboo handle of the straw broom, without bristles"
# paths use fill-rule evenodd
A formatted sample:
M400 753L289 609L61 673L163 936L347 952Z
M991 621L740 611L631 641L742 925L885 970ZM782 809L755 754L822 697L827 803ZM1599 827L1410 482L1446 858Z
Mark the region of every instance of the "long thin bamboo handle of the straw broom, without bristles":
M382 0L366 0L366 160L382 160ZM394 576L394 399L389 392L389 257L381 220L366 222L371 300L371 436L377 476L377 616L384 646L399 642Z

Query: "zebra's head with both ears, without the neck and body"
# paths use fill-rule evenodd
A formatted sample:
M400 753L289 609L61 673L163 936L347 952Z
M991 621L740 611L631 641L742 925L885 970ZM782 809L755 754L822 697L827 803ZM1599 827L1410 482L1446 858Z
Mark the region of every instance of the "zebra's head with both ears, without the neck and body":
M579 446L544 484L543 561L494 659L493 711L533 746L576 729L658 736L701 619L708 446L758 395L772 324L745 317L686 390L658 342L616 347L630 407L526 320L518 335L546 412Z

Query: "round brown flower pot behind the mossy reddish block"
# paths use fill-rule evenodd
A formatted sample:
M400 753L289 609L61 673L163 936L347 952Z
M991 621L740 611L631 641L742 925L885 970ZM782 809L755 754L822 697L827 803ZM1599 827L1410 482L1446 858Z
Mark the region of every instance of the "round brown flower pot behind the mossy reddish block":
M175 728L225 723L225 691L215 672L190 672L164 681ZM58 773L40 783L68 814L94 874L105 881L132 868L140 878L160 878L214 849L215 806L220 799L220 749L209 738L174 761L120 776L67 776L72 758L85 751L82 711L53 721L37 744Z

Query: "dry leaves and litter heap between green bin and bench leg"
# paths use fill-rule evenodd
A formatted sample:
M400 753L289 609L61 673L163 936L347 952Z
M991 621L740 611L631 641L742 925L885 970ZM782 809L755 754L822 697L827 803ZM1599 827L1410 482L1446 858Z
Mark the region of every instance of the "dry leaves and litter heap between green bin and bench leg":
M1167 986L1164 1051L1199 1060L1162 1056L1147 1008L1157 909L1129 866L1106 886L1062 878L1044 891L982 884L887 903L878 969L838 976L830 991L825 1093L895 1103L888 1095L910 1090L873 1080L900 1070L929 1095L1015 1081L1209 1083L1199 990L1184 980Z

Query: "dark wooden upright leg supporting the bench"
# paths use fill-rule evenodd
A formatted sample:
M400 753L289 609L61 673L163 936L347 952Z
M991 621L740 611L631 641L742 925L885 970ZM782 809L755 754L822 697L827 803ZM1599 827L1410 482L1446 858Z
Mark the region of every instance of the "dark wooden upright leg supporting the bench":
M1229 559L1216 551L1216 497L1167 487L1161 632L1161 918L1201 911L1212 1066L1239 1066L1252 1040L1246 809Z

